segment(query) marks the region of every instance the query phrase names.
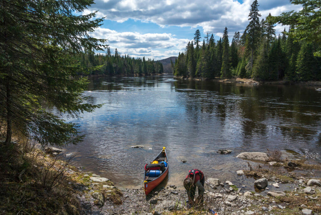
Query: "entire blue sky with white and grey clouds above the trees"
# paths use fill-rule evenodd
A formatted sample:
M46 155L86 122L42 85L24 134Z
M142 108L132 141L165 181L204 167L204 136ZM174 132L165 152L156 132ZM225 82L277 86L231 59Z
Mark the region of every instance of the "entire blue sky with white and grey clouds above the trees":
M215 41L228 28L231 41L234 32L243 33L253 0L95 0L83 14L98 11L96 17L105 17L103 25L89 35L107 39L111 52L117 48L121 55L164 59L178 56L197 29L202 39L205 33ZM258 0L262 18L269 13L299 10L289 0ZM275 26L276 34L284 27ZM288 29L288 27L287 27Z

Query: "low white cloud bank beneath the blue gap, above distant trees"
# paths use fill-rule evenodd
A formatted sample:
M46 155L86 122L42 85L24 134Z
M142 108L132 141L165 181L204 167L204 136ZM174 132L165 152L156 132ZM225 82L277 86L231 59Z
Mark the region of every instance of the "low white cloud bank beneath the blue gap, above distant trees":
M177 39L169 33L147 33L138 32L117 32L107 28L97 28L89 35L99 39L108 39L111 51L115 48L122 54L132 57L152 58L158 60L169 56L177 56L183 51L188 43L188 39ZM162 51L161 49L164 49ZM171 50L166 50L171 49Z

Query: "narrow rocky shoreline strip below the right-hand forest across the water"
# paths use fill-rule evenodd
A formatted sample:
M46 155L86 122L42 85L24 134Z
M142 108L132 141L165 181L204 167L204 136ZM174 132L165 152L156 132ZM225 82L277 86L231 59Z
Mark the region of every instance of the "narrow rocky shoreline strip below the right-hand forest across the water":
M212 81L212 82L225 82L225 83L238 83L238 84L252 84L252 85L256 85L256 84L282 84L282 85L304 85L304 86L321 86L321 81L298 81L298 82L294 82L294 81L286 81L286 80L282 80L282 81L256 81L254 79L250 79L250 78L220 78L220 77L215 77L214 79L210 79L210 80L203 80L201 78L186 78L183 76L174 76L174 78L176 79L180 79L180 80L192 80L192 81Z

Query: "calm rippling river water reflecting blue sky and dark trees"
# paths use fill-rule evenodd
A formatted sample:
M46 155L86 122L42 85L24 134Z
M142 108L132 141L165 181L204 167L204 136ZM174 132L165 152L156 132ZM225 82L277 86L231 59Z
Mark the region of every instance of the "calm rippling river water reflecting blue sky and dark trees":
M163 146L170 165L163 185L178 187L192 168L250 185L252 179L235 173L247 168L246 161L235 158L244 151L277 149L320 161L321 92L314 87L103 77L92 80L84 94L103 106L66 119L86 135L66 149L77 153L74 163L83 171L117 186L142 187L144 165ZM233 152L221 155L218 149Z

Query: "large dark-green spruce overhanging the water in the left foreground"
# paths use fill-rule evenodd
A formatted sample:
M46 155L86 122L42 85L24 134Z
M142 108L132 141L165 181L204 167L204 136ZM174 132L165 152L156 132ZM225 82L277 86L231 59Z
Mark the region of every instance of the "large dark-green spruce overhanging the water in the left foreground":
M77 57L85 51L104 50L106 40L95 39L103 19L82 15L93 0L1 1L0 100L1 121L6 124L5 144L16 131L39 143L64 145L82 140L76 125L48 112L80 116L97 105L87 103L82 90L88 79Z

